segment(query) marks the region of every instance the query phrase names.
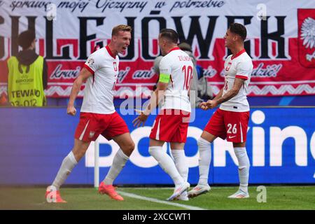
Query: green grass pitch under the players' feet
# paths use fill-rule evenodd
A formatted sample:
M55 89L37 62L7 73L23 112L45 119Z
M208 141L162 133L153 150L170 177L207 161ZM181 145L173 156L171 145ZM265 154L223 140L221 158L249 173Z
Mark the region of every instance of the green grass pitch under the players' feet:
M124 197L123 202L111 200L107 195L99 195L94 188L62 188L61 194L66 204L45 202L45 188L0 188L0 209L104 209L104 210L176 210L186 209L176 204L184 204L200 209L315 209L315 186L266 186L267 202L258 202L260 192L256 186L249 188L248 199L228 199L237 187L214 186L207 194L190 199L188 202L173 201L161 204L134 197ZM132 193L166 202L173 188L118 188L120 192Z

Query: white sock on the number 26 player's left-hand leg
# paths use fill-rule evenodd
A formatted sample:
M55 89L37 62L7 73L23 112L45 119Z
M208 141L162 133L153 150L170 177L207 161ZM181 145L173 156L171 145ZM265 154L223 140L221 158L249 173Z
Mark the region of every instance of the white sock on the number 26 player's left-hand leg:
M198 139L197 141L199 151L199 182L198 184L207 186L208 176L211 163L211 144L209 141Z

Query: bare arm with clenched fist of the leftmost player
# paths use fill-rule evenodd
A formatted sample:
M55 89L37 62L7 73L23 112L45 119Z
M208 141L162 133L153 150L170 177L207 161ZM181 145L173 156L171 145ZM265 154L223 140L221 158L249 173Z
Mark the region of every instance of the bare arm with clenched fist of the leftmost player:
M90 76L93 74L90 73L87 69L83 67L83 69L80 71L78 77L73 82L73 86L70 93L68 108L66 109L66 113L68 113L71 116L76 115L76 108L74 107L74 101L76 100L76 97L78 96L78 92L80 91L82 83L87 80Z

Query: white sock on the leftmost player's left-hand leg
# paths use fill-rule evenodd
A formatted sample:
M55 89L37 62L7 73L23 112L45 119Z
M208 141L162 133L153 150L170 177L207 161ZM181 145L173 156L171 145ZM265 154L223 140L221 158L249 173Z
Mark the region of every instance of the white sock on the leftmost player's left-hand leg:
M71 151L62 161L62 165L59 168L55 181L52 183L52 186L54 186L56 190L59 190L60 186L62 186L64 181L66 181L66 178L71 173L73 167L75 167L77 164L78 162L76 162L76 158L74 158L74 155Z

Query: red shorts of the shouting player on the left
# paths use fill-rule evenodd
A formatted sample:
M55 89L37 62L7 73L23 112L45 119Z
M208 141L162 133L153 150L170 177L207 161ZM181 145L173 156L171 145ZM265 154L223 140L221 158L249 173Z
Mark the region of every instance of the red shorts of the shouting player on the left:
M80 122L74 137L82 141L95 141L99 134L111 140L120 134L129 132L125 120L115 113L80 113Z

